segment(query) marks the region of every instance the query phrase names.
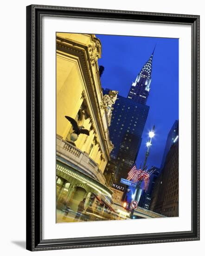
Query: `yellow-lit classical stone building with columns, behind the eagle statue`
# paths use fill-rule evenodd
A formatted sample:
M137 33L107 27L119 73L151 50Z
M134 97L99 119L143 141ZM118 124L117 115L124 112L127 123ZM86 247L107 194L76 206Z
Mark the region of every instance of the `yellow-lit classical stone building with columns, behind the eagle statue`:
M67 202L77 211L85 198L85 205L103 211L112 203L112 191L103 173L113 149L109 124L117 92L102 94L97 63L101 42L95 35L57 33L56 46L57 208ZM65 116L73 118L90 135L75 135Z

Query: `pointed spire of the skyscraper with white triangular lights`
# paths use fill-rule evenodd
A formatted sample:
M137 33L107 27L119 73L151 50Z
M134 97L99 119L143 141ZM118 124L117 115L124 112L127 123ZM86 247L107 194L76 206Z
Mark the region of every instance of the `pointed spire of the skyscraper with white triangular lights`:
M128 99L140 102L141 104L146 104L149 95L154 50L149 60L144 64L140 73L137 75L135 82L132 83L128 93Z

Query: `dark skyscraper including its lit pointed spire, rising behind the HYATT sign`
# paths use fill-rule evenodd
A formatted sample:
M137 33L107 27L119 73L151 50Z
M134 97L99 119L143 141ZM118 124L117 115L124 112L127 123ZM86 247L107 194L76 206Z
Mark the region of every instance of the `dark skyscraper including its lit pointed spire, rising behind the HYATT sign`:
M132 83L128 97L119 95L112 112L109 134L114 149L111 152L112 163L107 165L105 174L111 171L113 173L113 169L109 167L115 165L115 182L118 183L121 178L127 178L141 146L141 136L149 111L146 102L150 90L153 54L154 51ZM108 92L109 89L103 91L104 94Z

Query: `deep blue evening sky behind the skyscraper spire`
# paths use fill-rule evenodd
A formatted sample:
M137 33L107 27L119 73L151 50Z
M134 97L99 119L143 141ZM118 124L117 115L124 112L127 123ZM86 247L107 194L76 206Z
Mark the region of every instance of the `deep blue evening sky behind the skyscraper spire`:
M98 61L105 68L101 77L102 87L117 90L124 97L127 97L132 82L156 45L147 100L150 109L137 166L144 161L148 132L155 125L147 163L149 167L160 167L168 132L173 122L179 119L179 40L98 34L96 37L102 43L102 58Z

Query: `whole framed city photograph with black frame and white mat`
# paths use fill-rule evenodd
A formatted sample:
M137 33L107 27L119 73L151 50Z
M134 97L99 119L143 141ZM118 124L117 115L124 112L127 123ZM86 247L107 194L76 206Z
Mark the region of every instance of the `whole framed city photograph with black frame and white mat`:
M199 16L26 13L26 249L199 240Z

